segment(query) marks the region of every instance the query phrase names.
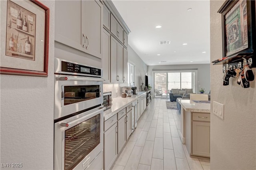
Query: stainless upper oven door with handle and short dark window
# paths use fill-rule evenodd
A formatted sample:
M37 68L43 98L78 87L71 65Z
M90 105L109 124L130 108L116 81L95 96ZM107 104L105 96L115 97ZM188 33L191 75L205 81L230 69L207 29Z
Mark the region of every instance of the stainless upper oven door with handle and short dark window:
M104 79L55 75L54 119L103 103Z

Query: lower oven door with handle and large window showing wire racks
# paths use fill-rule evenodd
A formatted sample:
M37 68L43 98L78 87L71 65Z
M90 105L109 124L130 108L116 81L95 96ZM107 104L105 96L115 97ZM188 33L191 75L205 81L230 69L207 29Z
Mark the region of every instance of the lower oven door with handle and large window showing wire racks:
M84 170L103 150L103 111L98 107L54 124L54 169Z

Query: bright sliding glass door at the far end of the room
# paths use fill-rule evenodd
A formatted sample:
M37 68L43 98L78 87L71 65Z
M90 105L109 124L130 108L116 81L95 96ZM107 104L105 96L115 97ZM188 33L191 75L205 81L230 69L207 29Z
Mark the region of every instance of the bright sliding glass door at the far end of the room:
M196 92L197 71L154 73L155 97L169 97L171 89L193 89Z

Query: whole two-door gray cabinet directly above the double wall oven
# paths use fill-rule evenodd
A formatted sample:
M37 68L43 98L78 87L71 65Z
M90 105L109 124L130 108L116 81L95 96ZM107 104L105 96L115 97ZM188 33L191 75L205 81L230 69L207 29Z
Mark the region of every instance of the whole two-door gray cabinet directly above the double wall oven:
M100 1L56 1L56 42L102 58L102 26L103 6Z

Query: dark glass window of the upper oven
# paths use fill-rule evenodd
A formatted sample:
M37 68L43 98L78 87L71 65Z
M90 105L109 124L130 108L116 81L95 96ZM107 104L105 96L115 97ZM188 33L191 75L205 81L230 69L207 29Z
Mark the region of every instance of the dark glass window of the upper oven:
M100 85L64 86L64 105L100 97Z

